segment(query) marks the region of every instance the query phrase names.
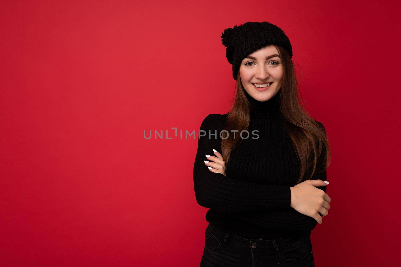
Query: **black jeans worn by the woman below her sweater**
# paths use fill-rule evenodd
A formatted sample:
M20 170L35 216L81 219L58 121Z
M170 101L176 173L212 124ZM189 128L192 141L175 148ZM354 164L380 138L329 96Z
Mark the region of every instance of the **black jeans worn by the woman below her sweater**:
M246 239L209 223L200 267L314 267L310 232L292 238Z

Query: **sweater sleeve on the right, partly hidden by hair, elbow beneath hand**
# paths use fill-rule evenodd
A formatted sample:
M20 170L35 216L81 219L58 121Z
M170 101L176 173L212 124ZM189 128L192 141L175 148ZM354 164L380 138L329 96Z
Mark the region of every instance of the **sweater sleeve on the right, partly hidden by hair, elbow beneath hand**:
M321 122L319 122L323 129L324 126ZM326 150L323 150L322 156L319 158L318 164L321 164L324 161L324 157L326 154ZM312 176L311 180L327 180L327 172L324 171L323 173L315 172ZM327 190L327 186L316 187L318 189L322 189L324 192ZM326 192L327 193L327 192ZM237 213L230 213L233 217L241 219L242 221L246 221L253 225L258 225L261 227L266 227L269 229L290 229L290 230L301 230L301 231L309 231L313 230L316 225L317 221L299 213L294 208L290 207L289 209L282 209L279 211L259 211L255 212L237 212Z

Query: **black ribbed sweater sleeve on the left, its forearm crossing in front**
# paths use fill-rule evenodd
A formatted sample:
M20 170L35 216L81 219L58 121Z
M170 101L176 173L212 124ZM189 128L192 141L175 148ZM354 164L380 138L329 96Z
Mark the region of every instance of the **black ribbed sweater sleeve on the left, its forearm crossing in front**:
M219 116L207 115L200 127L193 171L197 203L223 212L289 208L290 186L247 183L209 171L203 161L207 159L205 155L214 155L213 149L221 147L220 131L224 123ZM206 135L201 131L205 131Z

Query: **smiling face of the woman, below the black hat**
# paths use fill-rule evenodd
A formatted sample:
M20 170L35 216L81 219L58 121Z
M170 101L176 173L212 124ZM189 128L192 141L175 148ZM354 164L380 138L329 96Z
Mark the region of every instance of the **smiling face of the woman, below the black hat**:
M283 78L282 60L277 48L265 46L244 58L239 67L239 75L245 90L258 101L267 101L281 88ZM268 82L273 82L267 87ZM258 84L259 88L255 84Z

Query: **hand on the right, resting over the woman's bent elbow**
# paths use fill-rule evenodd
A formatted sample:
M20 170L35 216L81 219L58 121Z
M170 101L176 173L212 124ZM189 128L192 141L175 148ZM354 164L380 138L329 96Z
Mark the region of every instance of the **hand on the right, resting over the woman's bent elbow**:
M326 192L316 187L327 185L322 180L306 180L294 187L290 187L290 206L299 213L314 218L318 223L322 223L322 217L326 216L328 209L330 209L331 199Z

